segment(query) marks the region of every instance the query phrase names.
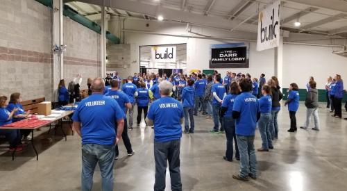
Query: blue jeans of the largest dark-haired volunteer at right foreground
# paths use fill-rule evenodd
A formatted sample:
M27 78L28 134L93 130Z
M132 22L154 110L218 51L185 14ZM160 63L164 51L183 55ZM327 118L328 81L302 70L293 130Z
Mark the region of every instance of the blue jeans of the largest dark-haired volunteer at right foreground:
M240 153L240 171L239 176L248 177L251 174L257 177L257 157L254 150L254 135L239 136L236 135L237 146Z

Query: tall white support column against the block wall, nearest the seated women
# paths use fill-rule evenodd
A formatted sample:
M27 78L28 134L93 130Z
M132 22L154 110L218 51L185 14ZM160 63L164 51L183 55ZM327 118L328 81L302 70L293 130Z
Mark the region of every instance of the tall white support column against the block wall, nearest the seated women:
M53 0L53 46L60 47L63 44L62 31L62 0ZM52 47L53 49L53 47ZM58 101L58 84L60 79L64 78L63 55L61 51L53 51L53 66L52 66L52 100Z

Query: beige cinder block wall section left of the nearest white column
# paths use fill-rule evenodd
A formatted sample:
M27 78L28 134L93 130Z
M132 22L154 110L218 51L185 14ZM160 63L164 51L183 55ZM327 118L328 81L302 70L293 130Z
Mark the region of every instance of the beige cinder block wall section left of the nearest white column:
M33 0L2 0L0 94L51 99L51 12Z

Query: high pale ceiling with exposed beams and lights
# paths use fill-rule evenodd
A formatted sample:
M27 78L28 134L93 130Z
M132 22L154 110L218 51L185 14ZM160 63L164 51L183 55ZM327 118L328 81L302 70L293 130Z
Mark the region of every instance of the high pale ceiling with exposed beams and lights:
M83 3L83 2L85 3ZM81 0L66 4L92 20L103 2L110 15L184 22L230 31L256 32L257 12L273 0ZM95 5L96 4L96 5ZM294 22L301 26L294 26ZM282 29L294 33L347 36L347 0L282 0Z

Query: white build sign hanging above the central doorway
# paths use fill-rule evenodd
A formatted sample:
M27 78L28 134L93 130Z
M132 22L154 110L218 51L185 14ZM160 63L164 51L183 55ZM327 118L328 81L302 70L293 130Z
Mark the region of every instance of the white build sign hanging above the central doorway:
M176 47L152 47L153 62L176 63Z

